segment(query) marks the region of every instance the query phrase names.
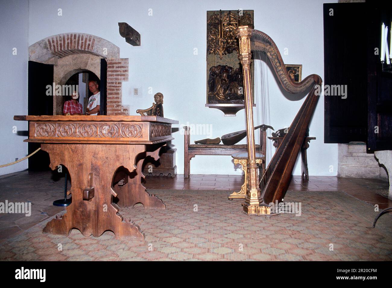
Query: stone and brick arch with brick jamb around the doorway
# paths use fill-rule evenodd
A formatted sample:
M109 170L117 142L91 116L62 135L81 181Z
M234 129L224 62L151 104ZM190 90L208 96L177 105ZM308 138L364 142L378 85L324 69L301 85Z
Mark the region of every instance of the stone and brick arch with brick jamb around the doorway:
M106 59L107 115L129 115L129 105L122 105L122 82L128 81L129 59L120 58L120 48L112 42L91 34L64 33L29 46L29 60L45 64L56 65L58 59L77 54Z

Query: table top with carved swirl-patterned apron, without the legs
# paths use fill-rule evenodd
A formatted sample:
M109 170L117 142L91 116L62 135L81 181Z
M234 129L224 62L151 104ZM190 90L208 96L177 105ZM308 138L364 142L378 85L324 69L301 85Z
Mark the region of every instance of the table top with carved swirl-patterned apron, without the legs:
M171 136L171 124L176 123L174 120L157 116L59 115L15 116L14 119L30 121L29 142L41 143L46 139L56 138L57 143L137 141L141 144L153 144Z

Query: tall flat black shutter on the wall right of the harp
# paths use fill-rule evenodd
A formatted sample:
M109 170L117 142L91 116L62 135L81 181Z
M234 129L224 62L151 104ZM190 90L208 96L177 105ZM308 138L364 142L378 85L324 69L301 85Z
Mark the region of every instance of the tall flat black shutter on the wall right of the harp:
M366 5L337 3L323 8L324 84L347 85L346 99L324 96L324 143L367 141Z

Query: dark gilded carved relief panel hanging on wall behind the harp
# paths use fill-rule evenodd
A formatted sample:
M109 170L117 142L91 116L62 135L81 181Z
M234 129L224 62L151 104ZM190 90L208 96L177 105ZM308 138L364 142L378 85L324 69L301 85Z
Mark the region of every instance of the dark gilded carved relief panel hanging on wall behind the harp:
M207 104L225 116L244 108L243 75L236 29L253 25L253 10L207 11ZM253 74L253 65L251 67Z

